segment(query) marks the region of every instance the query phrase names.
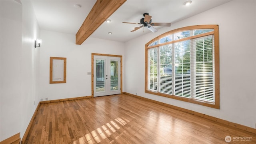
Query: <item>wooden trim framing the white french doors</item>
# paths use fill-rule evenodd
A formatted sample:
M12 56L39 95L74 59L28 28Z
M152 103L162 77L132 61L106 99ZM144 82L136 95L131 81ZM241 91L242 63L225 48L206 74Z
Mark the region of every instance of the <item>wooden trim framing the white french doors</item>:
M92 70L91 70L91 78L92 78L92 98L94 97L94 56L111 56L120 58L120 92L123 93L123 65L122 65L122 57L121 55L113 55L113 54L98 54L92 53Z

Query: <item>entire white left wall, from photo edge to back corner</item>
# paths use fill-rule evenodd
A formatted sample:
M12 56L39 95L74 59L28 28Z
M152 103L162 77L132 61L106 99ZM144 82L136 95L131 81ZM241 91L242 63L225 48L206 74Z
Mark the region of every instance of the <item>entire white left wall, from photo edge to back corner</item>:
M0 141L24 132L34 113L39 74L39 27L26 0L1 0ZM37 101L38 102L38 101ZM36 104L37 105L37 104Z

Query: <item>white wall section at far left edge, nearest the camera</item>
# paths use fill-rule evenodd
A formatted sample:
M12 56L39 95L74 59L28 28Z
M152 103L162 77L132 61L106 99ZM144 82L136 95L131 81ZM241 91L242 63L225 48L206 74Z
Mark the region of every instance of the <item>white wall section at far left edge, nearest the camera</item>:
M0 141L20 132L22 5L1 3Z

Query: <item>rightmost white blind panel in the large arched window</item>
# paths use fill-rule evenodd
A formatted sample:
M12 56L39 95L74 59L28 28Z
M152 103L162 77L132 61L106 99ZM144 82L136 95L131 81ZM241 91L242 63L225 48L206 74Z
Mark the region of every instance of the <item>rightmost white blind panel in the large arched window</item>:
M193 40L196 56L194 98L214 102L214 36Z

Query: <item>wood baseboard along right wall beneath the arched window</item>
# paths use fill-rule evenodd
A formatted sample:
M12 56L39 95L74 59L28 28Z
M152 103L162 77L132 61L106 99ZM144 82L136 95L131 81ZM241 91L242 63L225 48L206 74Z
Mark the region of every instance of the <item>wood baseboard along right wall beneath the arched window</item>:
M163 103L163 102L158 102L156 100L151 100L149 98L144 98L142 96L137 96L137 95L134 95L134 94L130 94L128 92L124 92L124 94L127 94L128 96L134 96L136 98L140 98L142 100L146 100L146 101L149 101L149 102L153 102L153 103L156 103L156 104L160 104L162 106L166 106L168 108L173 108L173 109L176 109L176 110L180 110L182 112L187 112L189 114L194 114L196 116L200 116L202 118L206 118L208 120L212 120L214 122L218 122L220 124L224 124L226 126L230 126L232 128L238 128L240 130L244 130L246 132L251 132L251 133L254 133L256 134L256 129L255 128L251 128L251 127L248 127L248 126L244 126L242 124L236 124L234 122L229 122L227 120L222 120L220 118L216 118L216 117L213 117L213 116L209 116L209 115L206 115L206 114L202 114L202 113L199 113L199 112L195 112L195 111L192 111L192 110L188 110L188 109L185 109L185 108L180 108L178 106L173 106L173 105L170 105L170 104L166 104L166 103Z

